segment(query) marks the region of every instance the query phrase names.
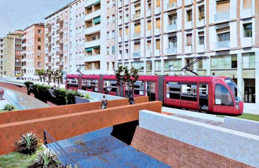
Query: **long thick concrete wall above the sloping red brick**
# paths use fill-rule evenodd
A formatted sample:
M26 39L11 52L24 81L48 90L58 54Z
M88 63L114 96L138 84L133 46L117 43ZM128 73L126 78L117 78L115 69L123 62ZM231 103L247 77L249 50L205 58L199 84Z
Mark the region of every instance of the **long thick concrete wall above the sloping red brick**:
M147 110L140 111L139 126L251 166L259 165L256 135Z

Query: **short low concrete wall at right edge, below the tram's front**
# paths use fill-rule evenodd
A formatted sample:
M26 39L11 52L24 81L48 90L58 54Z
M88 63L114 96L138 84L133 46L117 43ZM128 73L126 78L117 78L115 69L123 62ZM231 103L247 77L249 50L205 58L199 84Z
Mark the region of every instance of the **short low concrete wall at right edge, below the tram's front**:
M259 135L259 122L236 117L224 117L224 127L248 134Z

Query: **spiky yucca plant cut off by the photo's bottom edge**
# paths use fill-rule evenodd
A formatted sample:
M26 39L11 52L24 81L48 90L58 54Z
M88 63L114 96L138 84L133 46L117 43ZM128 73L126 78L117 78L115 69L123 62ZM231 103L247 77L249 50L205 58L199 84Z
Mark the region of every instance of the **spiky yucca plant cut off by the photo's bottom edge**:
M32 161L29 168L56 168L60 165L60 161L57 159L57 154L45 148L42 151L37 152L36 159Z

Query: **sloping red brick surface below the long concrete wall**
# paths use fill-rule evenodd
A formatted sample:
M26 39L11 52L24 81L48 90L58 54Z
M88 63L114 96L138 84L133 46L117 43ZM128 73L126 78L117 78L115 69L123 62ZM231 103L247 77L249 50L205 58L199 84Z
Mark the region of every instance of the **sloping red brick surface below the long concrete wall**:
M131 146L172 167L252 167L173 138L137 127Z

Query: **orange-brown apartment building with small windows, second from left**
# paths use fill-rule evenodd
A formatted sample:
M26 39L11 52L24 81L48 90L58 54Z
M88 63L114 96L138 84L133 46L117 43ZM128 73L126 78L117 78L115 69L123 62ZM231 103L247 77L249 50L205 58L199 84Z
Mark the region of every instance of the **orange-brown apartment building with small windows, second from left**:
M45 69L45 25L27 27L22 37L21 76L23 80L39 81L38 69Z

